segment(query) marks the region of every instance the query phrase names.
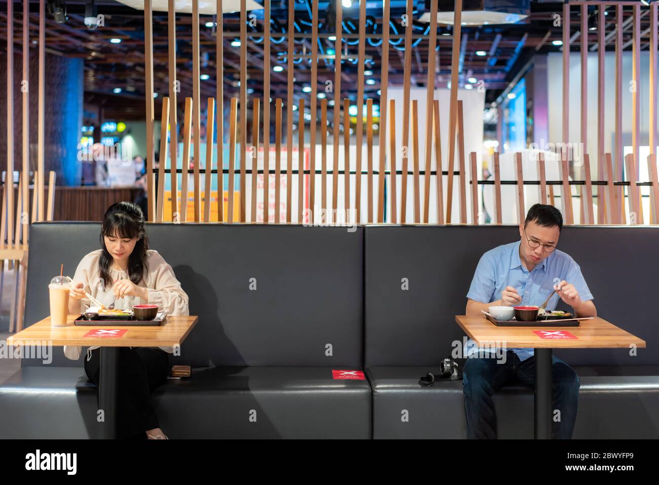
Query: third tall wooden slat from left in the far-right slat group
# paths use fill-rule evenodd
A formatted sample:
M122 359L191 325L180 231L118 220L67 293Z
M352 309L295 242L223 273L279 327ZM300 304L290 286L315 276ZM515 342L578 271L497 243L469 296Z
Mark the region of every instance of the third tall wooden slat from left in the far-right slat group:
M604 30L606 20L604 16L606 5L600 5L597 12L597 179L605 179L604 169L604 54L606 53L606 44L604 43ZM597 222L604 223L604 214L606 212L606 191L604 186L597 187ZM594 221L593 221L594 223Z

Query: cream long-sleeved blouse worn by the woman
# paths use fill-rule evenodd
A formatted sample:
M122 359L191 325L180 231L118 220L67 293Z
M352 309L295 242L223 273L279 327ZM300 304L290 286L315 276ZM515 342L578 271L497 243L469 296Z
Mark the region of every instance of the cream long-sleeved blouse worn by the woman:
M105 288L103 279L98 270L98 262L103 250L97 249L87 254L76 269L73 281L82 283L84 291L99 300L104 306L110 306L114 301L115 308L132 308L138 304L157 304L158 311L166 311L168 315L189 315L188 295L183 291L181 283L176 279L174 270L163 259L158 251L147 250L146 272L138 286L148 288L148 300L142 300L139 297L123 297L115 300L112 287ZM110 276L117 281L118 279L128 279L128 271L115 270L110 268ZM91 306L88 298L80 301L80 313L84 313ZM90 347L90 350L98 347ZM173 352L171 347L161 347L164 351ZM71 360L78 360L82 347L64 347L64 355Z

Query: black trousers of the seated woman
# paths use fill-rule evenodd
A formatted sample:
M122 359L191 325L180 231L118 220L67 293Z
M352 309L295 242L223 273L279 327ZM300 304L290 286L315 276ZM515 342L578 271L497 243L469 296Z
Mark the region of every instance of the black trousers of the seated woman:
M84 371L98 385L100 349L84 360ZM148 347L119 348L117 365L117 438L146 438L145 431L159 428L151 392L167 380L167 353ZM97 393L98 403L98 393Z

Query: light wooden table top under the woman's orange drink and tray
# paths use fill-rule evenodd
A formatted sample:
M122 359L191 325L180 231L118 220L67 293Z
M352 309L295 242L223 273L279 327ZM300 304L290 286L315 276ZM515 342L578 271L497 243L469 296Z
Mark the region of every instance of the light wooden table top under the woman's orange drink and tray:
M199 318L197 316L167 316L158 327L137 326L75 326L73 320L80 315L69 315L66 327L51 327L50 317L29 326L7 338L7 345L81 345L91 347L173 347L181 345ZM71 324L71 325L69 325ZM126 330L119 337L85 337L97 330ZM119 332L121 333L121 331ZM112 335L105 333L105 335Z

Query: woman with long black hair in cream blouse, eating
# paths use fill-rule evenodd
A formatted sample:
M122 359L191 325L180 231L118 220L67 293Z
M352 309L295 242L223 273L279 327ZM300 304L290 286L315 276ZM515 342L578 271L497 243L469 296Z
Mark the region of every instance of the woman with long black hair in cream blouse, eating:
M188 295L171 266L158 251L149 248L144 214L132 202L117 202L103 217L101 248L90 252L76 270L71 283L69 313L80 314L91 302L85 293L104 306L130 309L136 304L158 304L169 315L188 315ZM68 358L77 360L81 347L65 347ZM166 439L151 403L151 391L163 384L169 372L171 347L120 347L117 390L117 435L120 438ZM84 361L88 378L98 385L100 355L90 347Z

